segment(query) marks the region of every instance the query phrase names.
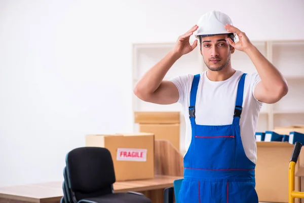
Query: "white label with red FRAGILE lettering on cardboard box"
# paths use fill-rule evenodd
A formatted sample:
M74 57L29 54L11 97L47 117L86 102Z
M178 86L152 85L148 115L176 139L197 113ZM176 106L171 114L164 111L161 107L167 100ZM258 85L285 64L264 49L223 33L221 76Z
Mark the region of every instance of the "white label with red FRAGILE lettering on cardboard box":
M146 161L147 149L118 148L117 160L118 161Z

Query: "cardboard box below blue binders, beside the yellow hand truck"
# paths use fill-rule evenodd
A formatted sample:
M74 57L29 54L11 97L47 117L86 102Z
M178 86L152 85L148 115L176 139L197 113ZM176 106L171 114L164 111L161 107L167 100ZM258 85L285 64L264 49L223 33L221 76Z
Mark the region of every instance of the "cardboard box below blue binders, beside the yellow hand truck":
M255 189L259 201L288 202L288 166L294 145L287 142L257 142L256 145ZM297 163L295 172L298 167ZM296 177L295 190L299 189L299 178ZM295 202L299 199L296 198Z

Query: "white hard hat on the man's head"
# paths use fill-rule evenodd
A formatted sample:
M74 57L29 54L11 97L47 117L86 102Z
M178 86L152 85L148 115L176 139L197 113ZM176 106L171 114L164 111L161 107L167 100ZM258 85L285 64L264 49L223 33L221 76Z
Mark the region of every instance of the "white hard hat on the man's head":
M232 25L232 21L229 16L219 11L210 11L204 14L199 22L195 33L195 37L199 39L200 35L220 35L225 33L231 33L225 29L225 25Z

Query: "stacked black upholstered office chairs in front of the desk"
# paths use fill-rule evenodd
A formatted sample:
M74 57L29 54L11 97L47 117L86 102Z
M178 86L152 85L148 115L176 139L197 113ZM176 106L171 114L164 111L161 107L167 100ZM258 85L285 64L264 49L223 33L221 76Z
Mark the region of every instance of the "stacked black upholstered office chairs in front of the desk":
M66 155L65 189L71 203L151 203L151 200L138 192L115 193L116 182L110 152L101 147L82 147L71 150ZM63 184L64 187L65 184ZM65 202L69 203L69 202Z

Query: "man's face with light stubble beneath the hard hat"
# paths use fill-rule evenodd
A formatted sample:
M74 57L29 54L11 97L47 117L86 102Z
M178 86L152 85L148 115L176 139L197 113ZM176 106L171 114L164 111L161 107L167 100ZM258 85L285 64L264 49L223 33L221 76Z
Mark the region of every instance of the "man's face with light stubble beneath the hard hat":
M201 54L208 69L211 71L221 71L230 62L231 49L227 40L228 35L216 35L202 38Z

